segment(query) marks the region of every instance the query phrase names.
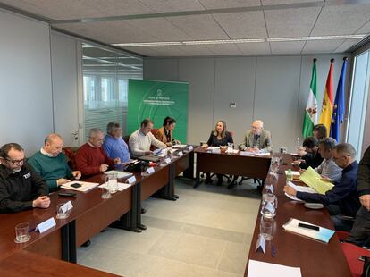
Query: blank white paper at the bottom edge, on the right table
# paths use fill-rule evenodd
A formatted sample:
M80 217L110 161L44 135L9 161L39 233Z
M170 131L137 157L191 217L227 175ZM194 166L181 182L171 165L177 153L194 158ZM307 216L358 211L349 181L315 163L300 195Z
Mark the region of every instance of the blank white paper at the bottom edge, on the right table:
M262 276L284 276L284 277L301 277L299 267L290 267L281 264L270 264L249 260L248 277Z

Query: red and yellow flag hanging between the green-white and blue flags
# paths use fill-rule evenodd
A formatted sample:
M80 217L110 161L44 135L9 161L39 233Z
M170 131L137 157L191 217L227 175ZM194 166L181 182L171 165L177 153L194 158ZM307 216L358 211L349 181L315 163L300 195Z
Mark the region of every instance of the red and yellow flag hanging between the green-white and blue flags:
M332 125L332 94L334 86L332 84L332 63L334 59L330 60L330 69L328 73L328 78L326 79L325 92L323 98L323 106L321 108L320 114L320 124L324 124L328 133L330 132L330 126Z

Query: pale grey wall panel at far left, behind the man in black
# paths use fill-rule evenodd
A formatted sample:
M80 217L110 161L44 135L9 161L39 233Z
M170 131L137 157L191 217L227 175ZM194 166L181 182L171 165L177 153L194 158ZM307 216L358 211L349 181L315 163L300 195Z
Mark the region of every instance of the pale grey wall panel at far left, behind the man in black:
M0 145L31 155L53 131L49 26L0 11Z

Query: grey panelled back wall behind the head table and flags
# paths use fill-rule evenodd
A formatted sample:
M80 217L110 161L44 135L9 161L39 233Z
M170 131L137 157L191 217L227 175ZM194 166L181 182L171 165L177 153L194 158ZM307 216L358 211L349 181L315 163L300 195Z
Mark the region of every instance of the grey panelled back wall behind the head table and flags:
M335 94L343 56L146 58L144 79L189 81L189 143L208 139L221 119L239 143L250 123L261 119L272 131L274 150L293 151L297 137L301 139L314 57L320 110L330 59L336 61ZM230 107L231 102L236 108Z

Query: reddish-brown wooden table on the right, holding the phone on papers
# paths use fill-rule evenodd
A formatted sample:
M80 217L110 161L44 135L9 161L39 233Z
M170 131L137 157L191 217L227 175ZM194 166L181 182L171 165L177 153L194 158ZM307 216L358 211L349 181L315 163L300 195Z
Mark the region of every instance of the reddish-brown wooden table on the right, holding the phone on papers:
M273 218L273 240L267 241L265 254L260 251L256 252L256 241L262 216L259 210L249 249L248 263L249 260L256 260L300 267L304 277L351 276L349 265L341 249L341 242L336 234L326 244L283 230L282 225L288 222L290 218L296 218L332 230L334 230L334 226L326 208L320 210L307 209L303 206L303 203L293 201L285 196L283 192L286 183L284 171L293 168L291 165L293 159L289 154L276 155L282 157L282 164L279 167L279 180L273 192L278 198L276 216ZM297 168L293 169L297 170ZM303 185L300 181L293 180L293 182L297 185ZM275 252L274 257L272 256L272 245ZM245 276L247 274L248 264Z

